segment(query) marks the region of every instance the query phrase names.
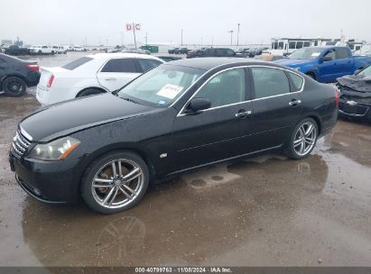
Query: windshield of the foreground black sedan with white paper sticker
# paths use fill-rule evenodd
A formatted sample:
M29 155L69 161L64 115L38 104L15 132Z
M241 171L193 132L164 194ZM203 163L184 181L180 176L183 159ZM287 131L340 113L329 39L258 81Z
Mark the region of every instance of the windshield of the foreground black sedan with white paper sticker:
M161 65L123 87L118 96L165 107L175 102L204 72L198 68Z

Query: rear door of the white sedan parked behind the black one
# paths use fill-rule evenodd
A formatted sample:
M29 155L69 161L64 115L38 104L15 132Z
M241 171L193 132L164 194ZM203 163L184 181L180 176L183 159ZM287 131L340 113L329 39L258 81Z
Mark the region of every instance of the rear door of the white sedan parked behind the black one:
M107 63L97 72L99 84L110 91L125 86L126 83L141 75L135 59L115 58L109 59Z

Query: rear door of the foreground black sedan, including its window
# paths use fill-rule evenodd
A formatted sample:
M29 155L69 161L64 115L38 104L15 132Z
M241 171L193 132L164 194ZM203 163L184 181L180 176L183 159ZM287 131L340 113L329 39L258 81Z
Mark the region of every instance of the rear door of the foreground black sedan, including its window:
M303 78L273 67L252 67L253 133L256 150L283 144L302 113Z

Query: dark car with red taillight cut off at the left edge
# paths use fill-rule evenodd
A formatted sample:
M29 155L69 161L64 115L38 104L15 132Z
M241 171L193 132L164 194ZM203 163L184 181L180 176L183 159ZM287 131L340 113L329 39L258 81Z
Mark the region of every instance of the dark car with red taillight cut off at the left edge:
M39 83L39 65L0 53L0 91L7 96L22 96L27 87Z

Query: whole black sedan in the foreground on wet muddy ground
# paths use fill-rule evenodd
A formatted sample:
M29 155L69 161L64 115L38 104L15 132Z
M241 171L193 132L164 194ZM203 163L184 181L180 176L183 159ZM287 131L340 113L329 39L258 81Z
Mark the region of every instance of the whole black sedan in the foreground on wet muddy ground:
M267 151L302 159L338 119L336 87L238 58L162 64L114 93L49 105L18 125L11 169L30 196L112 214L155 179Z

